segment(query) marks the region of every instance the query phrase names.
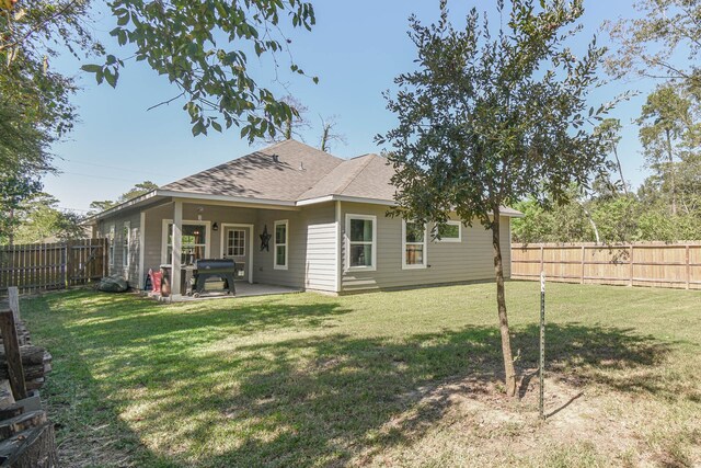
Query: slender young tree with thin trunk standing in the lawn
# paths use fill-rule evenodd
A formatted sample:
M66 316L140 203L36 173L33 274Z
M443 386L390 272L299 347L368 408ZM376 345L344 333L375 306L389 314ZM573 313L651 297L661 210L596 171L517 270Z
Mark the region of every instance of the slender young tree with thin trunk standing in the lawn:
M516 372L504 292L502 209L532 196L566 198L586 186L606 161L595 123L612 104L588 109L604 50L591 42L582 58L568 48L583 13L573 2L497 2L492 25L475 9L455 28L446 1L440 20L410 19L416 70L395 79L388 95L399 126L378 137L389 144L398 207L392 214L445 225L452 213L492 232L506 392ZM484 21L482 21L484 20ZM437 231L434 231L436 233Z

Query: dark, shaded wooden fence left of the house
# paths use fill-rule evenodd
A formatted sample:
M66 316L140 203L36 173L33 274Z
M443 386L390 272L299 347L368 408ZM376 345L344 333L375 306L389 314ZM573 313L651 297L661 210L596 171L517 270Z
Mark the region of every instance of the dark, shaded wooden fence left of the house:
M107 271L107 239L0 246L0 295L9 286L35 293L99 281Z

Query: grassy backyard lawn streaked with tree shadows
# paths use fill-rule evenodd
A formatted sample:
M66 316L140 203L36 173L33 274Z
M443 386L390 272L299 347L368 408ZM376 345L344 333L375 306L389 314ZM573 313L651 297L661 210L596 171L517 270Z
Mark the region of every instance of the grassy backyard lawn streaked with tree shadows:
M507 301L517 401L492 284L22 310L65 466L701 466L701 293L549 285L544 423L539 284Z

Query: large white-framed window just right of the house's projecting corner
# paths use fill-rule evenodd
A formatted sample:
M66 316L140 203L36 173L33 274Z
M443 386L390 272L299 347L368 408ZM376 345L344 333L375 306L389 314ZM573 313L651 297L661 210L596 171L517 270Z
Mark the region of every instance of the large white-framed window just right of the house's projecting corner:
M377 267L377 217L346 215L346 267L374 271Z

